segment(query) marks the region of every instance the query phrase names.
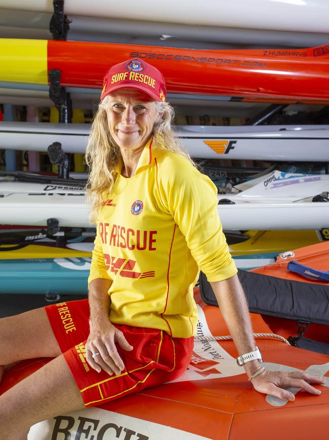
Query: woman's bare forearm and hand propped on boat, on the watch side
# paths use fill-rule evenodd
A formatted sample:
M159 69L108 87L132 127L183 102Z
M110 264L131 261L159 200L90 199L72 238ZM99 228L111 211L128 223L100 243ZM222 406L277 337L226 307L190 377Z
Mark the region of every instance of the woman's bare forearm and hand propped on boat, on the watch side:
M255 340L248 305L237 275L226 280L211 282L210 284L239 355L254 351ZM259 370L261 362L259 360L249 361L243 367L245 373L250 378ZM320 394L320 391L312 387L308 382L323 384L325 380L303 371L281 373L266 369L263 373L252 379L254 388L257 391L291 401L295 400L295 396L285 388L302 388L311 394Z

